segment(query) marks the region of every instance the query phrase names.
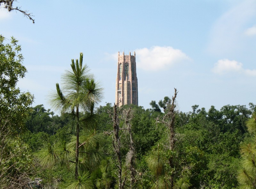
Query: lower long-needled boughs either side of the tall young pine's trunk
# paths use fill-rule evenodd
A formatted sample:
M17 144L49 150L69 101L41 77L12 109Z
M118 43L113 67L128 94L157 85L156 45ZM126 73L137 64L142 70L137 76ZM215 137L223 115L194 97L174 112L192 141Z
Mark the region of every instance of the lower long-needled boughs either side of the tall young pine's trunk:
M78 170L79 175L83 176L86 172L93 174L100 163L103 163L104 155L101 150L102 134L95 131L82 131L80 134L79 145L81 147L79 148ZM70 180L75 171L76 136L71 135L67 140L67 142L47 140L37 153L40 164L44 168L44 174L41 174L41 177L47 180L48 183L52 183L52 178L58 179L62 181L65 187L70 182L76 183L79 180L79 178ZM54 185L54 183L51 185Z

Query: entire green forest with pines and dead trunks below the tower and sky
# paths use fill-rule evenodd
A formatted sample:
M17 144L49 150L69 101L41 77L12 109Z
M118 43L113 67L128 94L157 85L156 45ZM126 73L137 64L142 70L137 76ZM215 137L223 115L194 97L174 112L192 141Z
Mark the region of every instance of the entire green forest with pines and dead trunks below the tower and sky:
M101 101L102 88L79 60L49 103L16 86L26 68L17 40L0 36L0 188L256 188L256 105L220 110L152 108ZM182 92L182 91L181 91Z

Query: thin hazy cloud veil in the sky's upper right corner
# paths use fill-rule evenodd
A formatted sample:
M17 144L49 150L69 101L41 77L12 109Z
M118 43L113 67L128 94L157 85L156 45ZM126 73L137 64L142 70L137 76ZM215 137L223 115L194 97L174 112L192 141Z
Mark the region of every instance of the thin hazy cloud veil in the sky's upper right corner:
M256 19L256 1L244 0L234 5L213 24L208 51L223 55L239 51L244 46L244 31Z

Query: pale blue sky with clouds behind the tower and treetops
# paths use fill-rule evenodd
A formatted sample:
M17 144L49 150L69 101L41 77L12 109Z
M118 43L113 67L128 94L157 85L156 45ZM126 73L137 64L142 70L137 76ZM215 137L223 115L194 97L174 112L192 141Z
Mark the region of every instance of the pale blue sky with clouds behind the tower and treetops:
M19 87L37 104L61 83L71 59L84 53L104 88L105 102L115 101L117 53L136 52L139 105L172 96L178 89L180 111L191 106L255 103L255 0L35 1L15 6L35 15L0 8L0 34L19 40L28 69ZM7 40L8 42L8 40Z

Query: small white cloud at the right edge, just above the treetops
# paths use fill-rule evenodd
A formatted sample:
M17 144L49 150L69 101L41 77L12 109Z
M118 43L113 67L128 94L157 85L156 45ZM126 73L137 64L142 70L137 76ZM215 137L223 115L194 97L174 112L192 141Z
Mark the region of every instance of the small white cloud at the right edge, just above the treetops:
M244 69L241 62L235 60L221 59L214 64L212 72L220 75L228 73L244 74L247 76L256 76L256 70Z

